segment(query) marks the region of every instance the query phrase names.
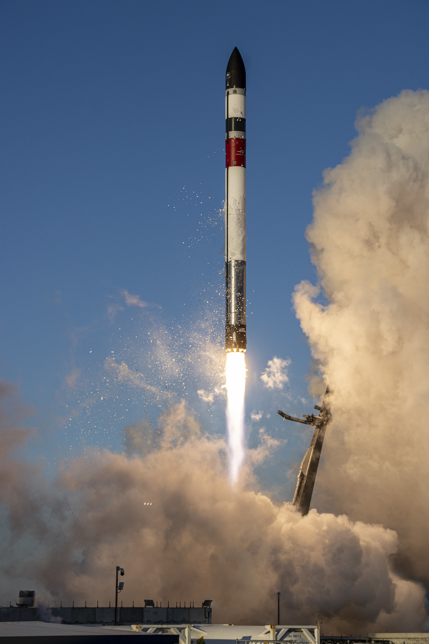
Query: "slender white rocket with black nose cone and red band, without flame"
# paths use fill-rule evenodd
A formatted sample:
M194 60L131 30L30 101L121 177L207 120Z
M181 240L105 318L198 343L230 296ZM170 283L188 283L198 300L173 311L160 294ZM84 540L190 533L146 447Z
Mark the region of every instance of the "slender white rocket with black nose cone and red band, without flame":
M237 47L225 83L225 348L246 351L246 69Z

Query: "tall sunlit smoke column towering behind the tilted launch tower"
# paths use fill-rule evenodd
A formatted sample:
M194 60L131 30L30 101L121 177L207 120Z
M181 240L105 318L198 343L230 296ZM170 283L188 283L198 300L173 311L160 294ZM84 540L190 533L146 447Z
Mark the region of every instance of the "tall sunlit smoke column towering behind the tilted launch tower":
M392 564L427 589L429 92L402 91L357 129L314 195L307 239L321 291L303 282L294 296L334 389L316 504L394 529Z

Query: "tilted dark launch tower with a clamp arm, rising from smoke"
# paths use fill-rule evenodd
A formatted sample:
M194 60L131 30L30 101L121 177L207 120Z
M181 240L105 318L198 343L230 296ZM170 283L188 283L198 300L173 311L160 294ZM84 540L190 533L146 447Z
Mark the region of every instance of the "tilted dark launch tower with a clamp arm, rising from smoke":
M302 422L305 425L314 425L315 433L313 433L313 439L311 439L310 446L306 451L304 459L300 465L300 471L298 473L297 489L295 489L295 495L293 496L292 504L295 506L303 516L308 514L311 504L311 497L313 495L313 489L315 487L317 468L320 460L320 453L322 452L322 446L324 444L325 431L329 423L332 421L331 415L331 399L332 392L329 390L329 387L326 388L324 395L324 401L322 406L319 407L315 405L315 409L319 410L319 415L315 416L313 413L311 415L303 415L305 421L302 421L300 418L294 418L289 416L287 413L280 412L280 414L285 420Z

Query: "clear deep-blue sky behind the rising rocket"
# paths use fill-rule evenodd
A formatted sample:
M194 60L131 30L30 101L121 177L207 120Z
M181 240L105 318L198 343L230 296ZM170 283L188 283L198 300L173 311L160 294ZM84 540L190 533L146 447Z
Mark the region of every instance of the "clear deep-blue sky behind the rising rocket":
M316 281L312 191L348 154L358 110L429 88L428 24L416 0L2 3L0 377L33 406L29 458L53 468L88 444L121 450L125 425L156 424L165 399L118 382L112 355L150 386L167 381L167 408L187 399L203 430L224 433L224 71L237 46L249 441L261 427L288 439L260 475L291 497L311 431L276 411L315 402L291 308L295 284ZM289 382L268 390L274 356L291 360Z

